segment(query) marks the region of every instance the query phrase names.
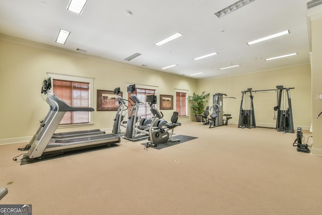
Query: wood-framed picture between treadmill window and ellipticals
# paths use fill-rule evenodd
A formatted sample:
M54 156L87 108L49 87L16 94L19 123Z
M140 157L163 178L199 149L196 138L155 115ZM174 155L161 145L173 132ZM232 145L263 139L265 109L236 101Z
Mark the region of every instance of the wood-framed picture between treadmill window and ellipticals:
M122 92L119 94L122 96ZM97 111L117 110L119 101L112 90L97 90Z

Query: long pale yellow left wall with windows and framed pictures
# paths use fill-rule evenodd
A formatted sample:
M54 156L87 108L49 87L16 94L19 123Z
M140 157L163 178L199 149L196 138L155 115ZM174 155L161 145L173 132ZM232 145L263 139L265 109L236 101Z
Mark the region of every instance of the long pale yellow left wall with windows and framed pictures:
M189 90L189 94L192 94L197 89L197 82L193 79L112 60L86 57L76 52L4 35L0 35L0 47L0 144L26 141L36 133L39 120L48 112L48 104L43 101L40 93L43 79L48 78L47 73L95 78L95 109L97 89L114 90L121 87L121 91L126 92L126 83L156 86L157 95L174 95L175 89ZM59 128L57 131L96 128L111 130L115 113L95 111L93 126ZM173 110L163 110L163 113L170 120ZM189 117L180 119L189 120Z

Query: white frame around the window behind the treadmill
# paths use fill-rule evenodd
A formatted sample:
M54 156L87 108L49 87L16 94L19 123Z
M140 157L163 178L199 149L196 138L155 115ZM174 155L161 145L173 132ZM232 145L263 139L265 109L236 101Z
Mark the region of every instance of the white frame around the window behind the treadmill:
M74 81L74 82L86 82L90 84L89 88L89 106L94 108L94 78L85 78L85 77L77 77L77 76L67 76L61 74L47 73L48 78L51 78L51 83L53 83L53 79L63 80L63 81ZM51 92L53 92L53 84L52 84ZM88 123L78 123L78 124L68 124L68 125L58 125L58 127L77 127L84 126L89 124L94 124L94 112L90 111L90 122Z

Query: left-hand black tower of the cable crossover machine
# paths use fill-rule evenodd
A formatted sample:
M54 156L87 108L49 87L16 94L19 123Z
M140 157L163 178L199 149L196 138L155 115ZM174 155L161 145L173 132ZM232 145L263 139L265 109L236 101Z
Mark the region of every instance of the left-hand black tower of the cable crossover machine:
M256 128L253 98L252 88L241 92L238 128Z

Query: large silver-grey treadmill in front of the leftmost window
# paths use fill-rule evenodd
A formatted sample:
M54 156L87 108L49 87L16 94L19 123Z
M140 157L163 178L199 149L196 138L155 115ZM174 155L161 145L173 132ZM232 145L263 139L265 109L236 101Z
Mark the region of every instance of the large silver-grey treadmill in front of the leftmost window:
M55 94L51 93L49 91L50 88L50 78L48 80L45 79L42 93L46 95L46 102L48 103L50 109L47 116L41 122L36 134L30 140L30 149L27 155L23 158L24 161L30 161L33 159L41 160L48 155L55 156L68 151L103 145L110 146L120 142L119 136L106 134L104 131L97 132L95 134L95 132L92 132L94 130L90 130L91 134L89 134L89 131L84 131L84 135L82 135L82 131L65 132L62 133L63 135L56 133L56 138L53 138L53 136L55 137L54 132L66 111L94 111L94 108L70 107L65 102L60 100ZM66 133L69 134L65 135Z

